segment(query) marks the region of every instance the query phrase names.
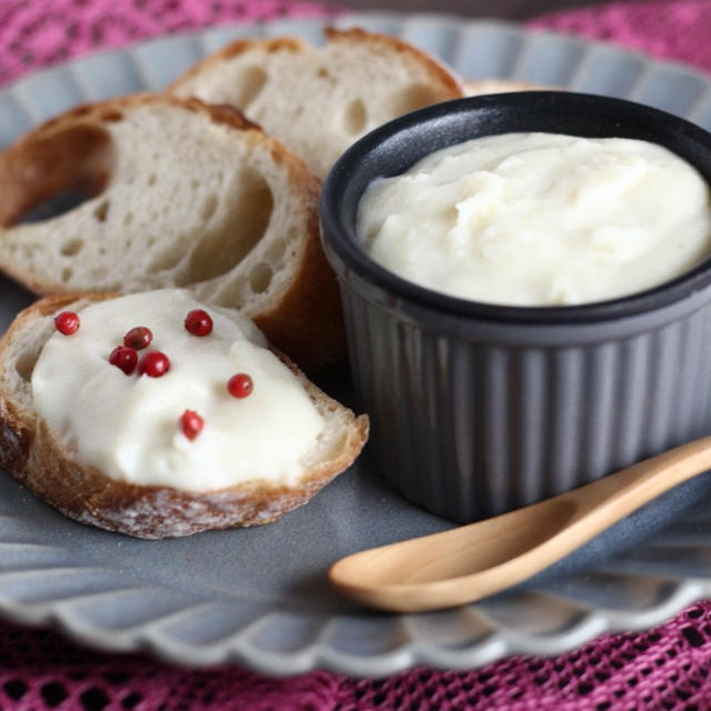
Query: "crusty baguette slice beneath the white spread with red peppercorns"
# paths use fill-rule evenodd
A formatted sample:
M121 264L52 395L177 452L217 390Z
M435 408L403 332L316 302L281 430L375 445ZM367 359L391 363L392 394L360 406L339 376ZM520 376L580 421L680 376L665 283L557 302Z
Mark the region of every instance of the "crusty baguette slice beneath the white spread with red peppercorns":
M257 525L306 503L358 457L368 437L368 418L356 418L282 357L327 422L296 485L253 480L193 492L137 485L82 464L34 411L30 379L43 344L54 332L53 316L64 309L81 313L86 306L106 298L110 296L41 299L22 311L0 340L0 465L62 513L149 539Z

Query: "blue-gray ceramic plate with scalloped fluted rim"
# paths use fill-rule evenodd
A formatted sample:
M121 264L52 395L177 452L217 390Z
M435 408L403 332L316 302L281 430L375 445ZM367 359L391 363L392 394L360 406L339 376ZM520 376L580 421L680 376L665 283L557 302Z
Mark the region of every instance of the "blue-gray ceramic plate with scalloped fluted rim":
M651 103L711 128L711 83L679 66L515 26L435 16L350 16L469 78L512 77ZM97 54L0 92L0 147L79 101L160 89L228 40L318 21L227 27ZM30 297L0 280L0 329ZM348 401L348 379L322 383ZM278 523L139 541L74 523L0 475L0 610L53 623L107 650L147 649L183 664L236 662L273 674L316 668L385 674L417 664L470 668L511 653L552 654L611 630L657 624L711 595L711 481L640 511L525 587L430 614L372 613L324 580L337 558L449 524L403 502L363 460Z

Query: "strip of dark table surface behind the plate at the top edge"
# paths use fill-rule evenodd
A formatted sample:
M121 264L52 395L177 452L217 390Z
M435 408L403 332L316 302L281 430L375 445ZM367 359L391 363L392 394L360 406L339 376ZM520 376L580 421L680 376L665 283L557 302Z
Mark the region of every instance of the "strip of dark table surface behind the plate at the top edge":
M327 4L353 10L399 10L402 12L445 12L469 17L525 20L583 6L602 4L603 0L324 0Z

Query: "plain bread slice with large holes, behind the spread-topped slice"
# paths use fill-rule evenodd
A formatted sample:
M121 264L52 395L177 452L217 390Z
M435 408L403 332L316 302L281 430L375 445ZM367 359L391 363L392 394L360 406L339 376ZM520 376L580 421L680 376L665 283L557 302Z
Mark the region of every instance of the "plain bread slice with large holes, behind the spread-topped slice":
M96 194L18 223L68 190ZM344 352L319 192L301 160L228 107L88 104L0 154L0 269L40 294L188 288L241 309L309 369Z

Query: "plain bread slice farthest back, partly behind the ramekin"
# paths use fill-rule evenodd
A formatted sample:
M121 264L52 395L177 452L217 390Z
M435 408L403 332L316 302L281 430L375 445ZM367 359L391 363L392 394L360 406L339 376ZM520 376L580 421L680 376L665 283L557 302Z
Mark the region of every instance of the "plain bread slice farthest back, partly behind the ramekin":
M321 179L363 133L464 96L453 74L407 42L360 29L326 34L322 49L292 37L238 40L169 91L237 107Z

